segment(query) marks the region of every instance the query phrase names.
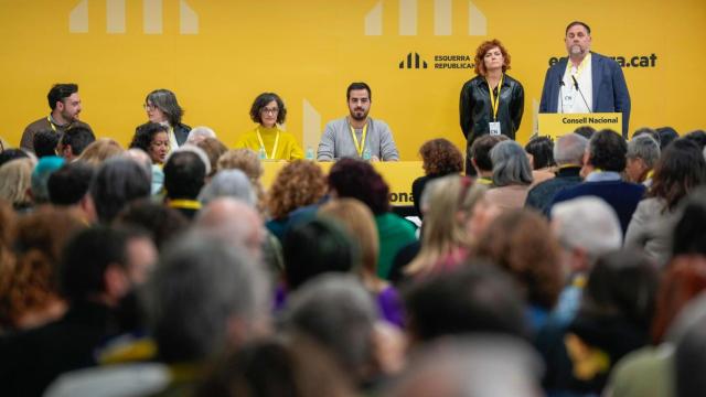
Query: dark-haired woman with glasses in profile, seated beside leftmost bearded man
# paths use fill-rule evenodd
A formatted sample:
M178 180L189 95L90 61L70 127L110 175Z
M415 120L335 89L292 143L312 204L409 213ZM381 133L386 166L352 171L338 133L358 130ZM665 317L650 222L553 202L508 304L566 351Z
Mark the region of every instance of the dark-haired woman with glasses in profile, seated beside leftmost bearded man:
M150 122L168 127L170 151L186 142L191 127L181 122L184 109L179 106L174 93L163 88L156 89L147 95L143 107Z

